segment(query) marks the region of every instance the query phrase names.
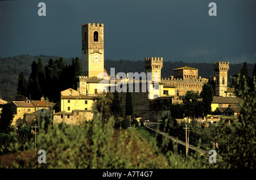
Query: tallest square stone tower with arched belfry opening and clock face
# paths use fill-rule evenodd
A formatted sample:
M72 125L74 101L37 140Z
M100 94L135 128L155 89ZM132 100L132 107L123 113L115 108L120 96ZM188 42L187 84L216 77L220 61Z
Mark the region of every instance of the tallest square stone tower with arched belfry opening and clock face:
M104 24L82 24L82 70L88 78L104 72Z

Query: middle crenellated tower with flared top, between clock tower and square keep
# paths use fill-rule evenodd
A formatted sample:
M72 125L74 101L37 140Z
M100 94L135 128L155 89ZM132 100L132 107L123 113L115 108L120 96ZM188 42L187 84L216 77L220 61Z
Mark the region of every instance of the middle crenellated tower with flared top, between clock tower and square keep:
M161 81L161 70L163 67L163 58L145 58L144 67L146 68L147 74L148 72L152 73L152 81L154 81L155 77L158 75L158 82Z

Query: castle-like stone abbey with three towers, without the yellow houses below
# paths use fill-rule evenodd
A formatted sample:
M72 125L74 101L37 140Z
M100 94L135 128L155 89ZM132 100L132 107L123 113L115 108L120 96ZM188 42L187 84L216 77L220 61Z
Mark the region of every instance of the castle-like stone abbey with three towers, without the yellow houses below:
M104 24L82 24L81 35L81 61L85 76L78 78L77 91L81 95L97 96L102 91L109 91L110 87L120 87L120 84L129 85L131 77L119 78L114 76L113 81L111 80L113 77L110 77L104 69ZM148 79L143 77L133 79L133 87L139 85L139 89L142 89L143 85L148 85L146 92L133 92L135 112L145 112L150 105L159 104L160 101L163 102L162 104L182 102L181 96L185 95L187 91L193 90L200 93L204 83L209 82L209 79L201 78L198 75L199 70L197 68L187 66L174 69L174 76L162 78L162 57L146 57L144 67L146 74L152 74L152 79L150 83L148 83ZM215 93L217 96L224 96L224 92L228 88L229 62L214 62L213 68L216 71L216 78L213 79L216 83ZM105 83L102 83L102 79L105 80ZM123 105L125 105L125 95L126 92L120 92ZM162 107L164 109L164 105Z

